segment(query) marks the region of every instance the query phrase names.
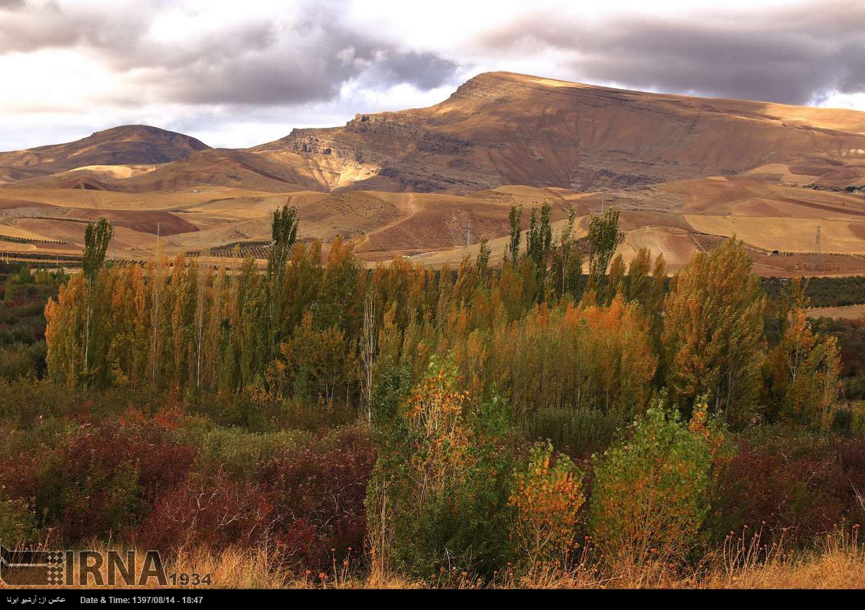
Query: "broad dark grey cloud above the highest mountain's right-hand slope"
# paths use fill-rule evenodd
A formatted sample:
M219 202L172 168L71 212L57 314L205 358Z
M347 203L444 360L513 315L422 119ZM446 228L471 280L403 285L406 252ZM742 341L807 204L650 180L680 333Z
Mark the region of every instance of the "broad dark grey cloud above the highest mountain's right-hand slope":
M865 91L865 5L812 2L740 15L612 17L592 26L533 16L490 32L507 52L571 51L576 78L750 100L804 104Z

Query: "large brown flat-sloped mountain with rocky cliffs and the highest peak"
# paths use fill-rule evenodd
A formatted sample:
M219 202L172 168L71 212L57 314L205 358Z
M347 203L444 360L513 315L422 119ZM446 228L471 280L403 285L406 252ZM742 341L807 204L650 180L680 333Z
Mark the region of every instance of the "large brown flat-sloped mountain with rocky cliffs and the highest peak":
M837 171L862 163L865 114L488 73L436 106L297 129L252 150L304 157L330 189L586 191L791 161Z

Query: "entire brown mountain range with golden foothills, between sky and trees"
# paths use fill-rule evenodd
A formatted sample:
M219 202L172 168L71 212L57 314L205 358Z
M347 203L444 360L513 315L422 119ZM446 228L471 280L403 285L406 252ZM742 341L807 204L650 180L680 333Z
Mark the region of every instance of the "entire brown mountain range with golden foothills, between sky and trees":
M115 223L114 257L152 254L157 231L170 254L260 255L287 202L301 238L325 250L342 237L368 261L438 265L485 238L497 261L511 207L546 201L555 231L576 209L579 235L616 207L625 261L649 247L675 271L736 235L757 273L865 274L865 112L522 74L479 74L435 106L243 150L118 127L0 153L3 180L0 253L36 259L80 253L99 216Z

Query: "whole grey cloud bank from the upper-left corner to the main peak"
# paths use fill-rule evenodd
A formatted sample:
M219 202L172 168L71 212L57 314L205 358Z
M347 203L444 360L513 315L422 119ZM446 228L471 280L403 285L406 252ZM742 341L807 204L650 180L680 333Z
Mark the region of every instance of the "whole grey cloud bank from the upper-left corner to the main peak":
M4 2L8 0L0 0ZM306 3L295 22L249 17L194 43L160 42L149 35L163 8L144 4L106 11L53 3L29 5L0 21L0 54L76 48L120 73L142 98L190 104L285 105L330 100L348 80L388 88L411 83L438 87L457 64L407 51L343 25L339 3ZM134 71L134 72L133 72Z

